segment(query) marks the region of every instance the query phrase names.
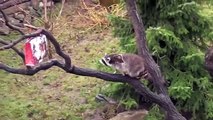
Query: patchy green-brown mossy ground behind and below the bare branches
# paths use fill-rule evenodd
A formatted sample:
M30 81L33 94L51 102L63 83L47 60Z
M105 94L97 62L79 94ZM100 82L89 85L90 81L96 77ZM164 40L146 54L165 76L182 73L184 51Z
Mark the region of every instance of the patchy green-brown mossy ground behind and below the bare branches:
M116 51L119 41L112 37L109 26L91 28L76 18L78 14L73 7L66 5L62 16L54 21L53 35L71 56L72 64L96 69L98 59L106 51ZM12 51L1 51L0 56L1 62L24 67ZM100 79L68 74L57 67L34 76L1 70L0 119L80 120L86 109L98 106L94 98L104 84Z

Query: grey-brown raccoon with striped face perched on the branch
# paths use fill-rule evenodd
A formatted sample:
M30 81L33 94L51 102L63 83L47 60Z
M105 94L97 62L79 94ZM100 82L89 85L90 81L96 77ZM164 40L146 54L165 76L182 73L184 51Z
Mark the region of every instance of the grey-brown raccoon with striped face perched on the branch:
M108 54L100 62L118 70L123 75L137 79L147 79L149 77L149 73L145 68L145 60L136 54Z

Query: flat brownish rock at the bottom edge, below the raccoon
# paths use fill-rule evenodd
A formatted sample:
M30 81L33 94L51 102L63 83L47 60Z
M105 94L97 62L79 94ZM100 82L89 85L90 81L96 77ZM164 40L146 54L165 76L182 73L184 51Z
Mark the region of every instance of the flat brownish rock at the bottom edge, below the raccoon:
M147 114L148 111L146 110L125 111L109 120L143 120Z

